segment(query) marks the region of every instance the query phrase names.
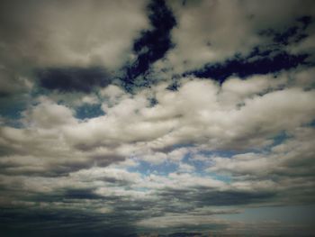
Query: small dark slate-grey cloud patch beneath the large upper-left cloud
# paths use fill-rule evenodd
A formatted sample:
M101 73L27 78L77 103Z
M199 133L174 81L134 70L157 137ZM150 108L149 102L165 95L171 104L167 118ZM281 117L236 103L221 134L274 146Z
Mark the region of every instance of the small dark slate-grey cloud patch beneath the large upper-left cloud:
M40 87L60 92L91 92L110 83L104 68L45 68L37 71Z

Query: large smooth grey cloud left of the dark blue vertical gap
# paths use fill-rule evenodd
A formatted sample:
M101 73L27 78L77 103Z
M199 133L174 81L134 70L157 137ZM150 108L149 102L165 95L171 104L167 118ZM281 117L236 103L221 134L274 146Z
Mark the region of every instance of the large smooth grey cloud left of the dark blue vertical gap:
M31 59L42 67L85 66L95 62L106 68L119 67L132 40L148 26L143 1L135 4L79 1L75 5L31 1L23 10L21 4L19 1L2 4L5 21L1 29L6 32L3 47L10 51L7 54L10 59Z

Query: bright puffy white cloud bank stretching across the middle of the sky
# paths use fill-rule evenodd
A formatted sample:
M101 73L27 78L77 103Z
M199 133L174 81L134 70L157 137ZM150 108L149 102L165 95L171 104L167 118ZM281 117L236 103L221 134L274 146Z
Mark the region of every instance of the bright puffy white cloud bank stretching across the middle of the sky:
M182 160L190 150L172 151L176 144L210 150L264 148L278 132L293 132L314 117L314 92L294 85L279 88L283 81L231 78L220 87L191 79L178 91L161 84L134 96L111 86L102 92L105 114L83 121L66 105L40 97L39 104L23 113L26 127L3 128L2 142L8 152L12 148L34 154L24 144L47 149L48 154L63 148L104 164L130 156L156 163ZM149 105L152 95L157 105ZM50 148L48 141L59 148Z

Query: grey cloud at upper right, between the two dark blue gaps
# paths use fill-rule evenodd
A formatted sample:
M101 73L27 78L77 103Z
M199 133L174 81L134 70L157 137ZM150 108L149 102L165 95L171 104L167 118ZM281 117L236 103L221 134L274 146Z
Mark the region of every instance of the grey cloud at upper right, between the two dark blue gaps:
M167 59L176 72L201 68L236 54L247 55L257 45L272 47L259 32L283 32L296 19L314 16L311 1L305 5L298 1L279 1L275 5L269 1L262 5L256 1L185 1L184 5L174 2L172 6L178 27L172 33L175 50L168 53Z

